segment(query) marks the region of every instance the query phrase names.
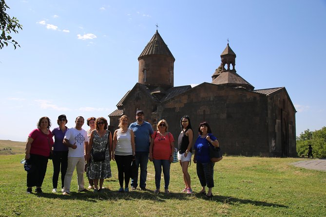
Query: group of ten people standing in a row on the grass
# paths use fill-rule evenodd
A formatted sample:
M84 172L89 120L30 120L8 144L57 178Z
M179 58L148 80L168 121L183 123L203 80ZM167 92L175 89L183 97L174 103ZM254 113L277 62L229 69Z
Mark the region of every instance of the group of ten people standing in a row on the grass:
M116 162L118 169L119 192L129 192L138 187L138 169L140 167L139 187L146 189L147 164L153 162L155 169L155 190L160 192L161 173L164 175L164 192L169 194L170 165L173 161L174 138L168 131L166 120L160 120L153 131L152 125L144 121L144 112L136 111L136 121L128 127L129 119L122 115L118 129L112 133L108 130L105 118L91 117L87 119L90 127L82 129L84 118L78 116L75 127L66 127L68 120L64 114L58 116L57 128L50 131L51 121L48 117L41 117L38 127L28 136L25 160L32 166L27 172L27 193L42 193L41 186L47 169L50 156L53 161L53 190L58 192L58 177L61 172L61 191L63 195L70 194L70 184L73 172L77 170L78 192L94 189L99 192L103 189L103 182L110 178L110 161ZM188 167L192 160L192 130L189 116L180 120L181 132L178 137L177 158L179 160L185 187L181 192L192 194L191 177ZM207 198L213 197L212 187L213 167L209 146L219 147L217 138L212 135L211 127L207 122L200 123L198 138L193 149L193 163L196 163L197 176L201 183L200 193ZM53 140L54 137L54 140ZM84 172L88 177L89 186L84 187ZM134 172L135 171L135 172ZM206 187L208 192L206 192Z

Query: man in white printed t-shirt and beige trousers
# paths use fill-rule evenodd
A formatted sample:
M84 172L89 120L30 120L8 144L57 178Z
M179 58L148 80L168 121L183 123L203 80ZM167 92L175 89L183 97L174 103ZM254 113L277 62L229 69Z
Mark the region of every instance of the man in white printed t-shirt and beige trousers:
M76 118L76 127L67 130L64 136L63 144L69 149L68 151L68 168L64 177L63 195L70 193L70 184L73 173L76 167L78 191L85 192L87 189L84 187L84 170L85 170L85 151L87 151L89 138L86 130L81 127L84 124L84 118L78 116Z

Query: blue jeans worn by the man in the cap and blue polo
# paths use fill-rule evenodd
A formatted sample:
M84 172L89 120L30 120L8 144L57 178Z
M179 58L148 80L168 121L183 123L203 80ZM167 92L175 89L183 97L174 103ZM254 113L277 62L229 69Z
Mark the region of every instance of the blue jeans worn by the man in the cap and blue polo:
M136 152L136 167L137 167L137 176L132 177L131 186L138 186L138 168L140 166L140 188L146 188L146 179L147 179L147 163L149 159L149 152L138 151Z

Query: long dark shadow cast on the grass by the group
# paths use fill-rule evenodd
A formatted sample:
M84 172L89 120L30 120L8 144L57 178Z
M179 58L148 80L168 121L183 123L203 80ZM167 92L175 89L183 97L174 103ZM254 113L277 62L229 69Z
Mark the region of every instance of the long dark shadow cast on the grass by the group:
M43 194L33 194L37 197L49 198L49 199L68 199L68 200L84 200L96 203L98 200L153 200L157 202L165 202L167 199L177 199L177 200L189 200L189 199L206 199L215 202L227 203L227 204L252 204L255 206L268 206L268 207L285 207L288 206L276 203L268 203L257 200L250 199L238 199L227 196L213 196L208 199L205 195L200 193L193 193L192 195L187 195L183 193L170 193L170 194L153 194L153 191L131 191L129 193L121 193L118 191L112 191L110 189L103 189L101 192L94 193L93 190L88 192L71 192L69 195L62 195L61 193L43 193Z

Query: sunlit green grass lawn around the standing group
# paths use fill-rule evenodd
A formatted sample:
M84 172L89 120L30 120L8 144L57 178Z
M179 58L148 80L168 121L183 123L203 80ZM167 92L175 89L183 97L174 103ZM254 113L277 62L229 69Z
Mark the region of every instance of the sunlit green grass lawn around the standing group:
M148 165L147 188L151 191L118 193L117 169L104 182L103 193L77 193L74 173L71 195L52 191L52 162L43 182L42 195L28 195L26 172L19 161L23 155L0 156L0 217L3 216L326 216L326 173L290 165L295 158L224 157L215 164L214 197L196 194L201 189L195 164L189 167L191 196L183 188L178 163L171 166L170 195L154 195L153 163ZM86 179L85 179L86 183ZM164 180L161 181L163 190ZM34 189L33 189L34 190Z

